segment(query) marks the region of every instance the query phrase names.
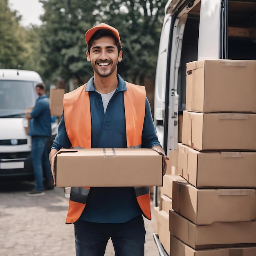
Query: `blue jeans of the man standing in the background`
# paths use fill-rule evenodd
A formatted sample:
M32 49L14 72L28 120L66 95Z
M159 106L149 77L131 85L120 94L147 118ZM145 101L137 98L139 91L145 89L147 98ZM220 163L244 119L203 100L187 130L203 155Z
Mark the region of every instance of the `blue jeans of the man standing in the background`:
M46 136L32 136L31 159L35 175L35 189L44 190L43 171L46 180L52 180L51 165L49 162L49 154L47 151Z

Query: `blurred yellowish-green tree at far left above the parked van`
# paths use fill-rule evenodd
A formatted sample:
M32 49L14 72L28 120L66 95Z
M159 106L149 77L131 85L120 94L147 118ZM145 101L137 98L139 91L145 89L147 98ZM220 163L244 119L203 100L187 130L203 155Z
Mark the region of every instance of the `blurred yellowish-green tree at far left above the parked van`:
M0 0L0 63L3 68L40 70L38 28L21 27L21 16L11 11L8 0Z

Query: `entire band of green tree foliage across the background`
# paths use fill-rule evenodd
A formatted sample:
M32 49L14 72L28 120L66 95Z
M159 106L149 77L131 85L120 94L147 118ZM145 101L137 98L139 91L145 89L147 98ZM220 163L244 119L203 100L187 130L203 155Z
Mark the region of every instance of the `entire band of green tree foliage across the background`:
M51 83L76 79L81 85L93 74L86 60L85 32L101 22L119 30L124 51L118 73L144 82L155 75L166 0L40 0L45 13L40 27L21 27L8 0L0 0L0 63L33 69Z

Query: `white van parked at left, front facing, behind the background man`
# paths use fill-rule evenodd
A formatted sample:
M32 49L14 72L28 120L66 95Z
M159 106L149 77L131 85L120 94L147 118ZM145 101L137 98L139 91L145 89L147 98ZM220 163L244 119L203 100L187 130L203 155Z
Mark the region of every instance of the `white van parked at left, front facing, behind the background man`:
M25 110L35 105L35 86L43 82L34 71L0 69L0 179L33 179L31 137ZM51 145L57 123L52 123Z

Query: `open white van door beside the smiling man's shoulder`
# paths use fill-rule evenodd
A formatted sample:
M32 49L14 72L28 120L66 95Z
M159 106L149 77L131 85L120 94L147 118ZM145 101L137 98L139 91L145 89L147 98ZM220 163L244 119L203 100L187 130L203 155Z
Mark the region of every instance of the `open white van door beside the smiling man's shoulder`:
M177 80L180 68L182 38L186 15L175 16L178 7L188 0L168 1L159 43L157 70L155 79L154 121L159 141L166 154L177 150L178 101ZM186 6L186 5L185 5ZM173 23L174 24L173 24Z

